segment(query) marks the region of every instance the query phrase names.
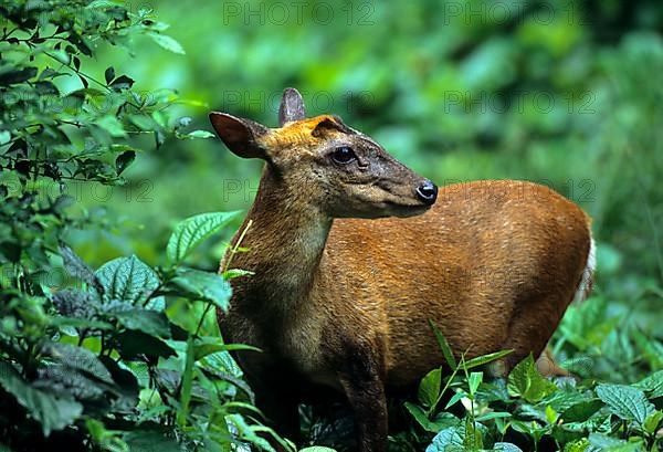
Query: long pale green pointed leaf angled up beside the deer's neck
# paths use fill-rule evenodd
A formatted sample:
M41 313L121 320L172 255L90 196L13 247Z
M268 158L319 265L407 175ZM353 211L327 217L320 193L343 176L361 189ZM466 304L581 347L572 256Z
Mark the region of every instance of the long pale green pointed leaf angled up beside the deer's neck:
M239 211L201 213L180 222L170 235L166 248L166 254L170 262L181 262L191 250L221 230L239 213Z

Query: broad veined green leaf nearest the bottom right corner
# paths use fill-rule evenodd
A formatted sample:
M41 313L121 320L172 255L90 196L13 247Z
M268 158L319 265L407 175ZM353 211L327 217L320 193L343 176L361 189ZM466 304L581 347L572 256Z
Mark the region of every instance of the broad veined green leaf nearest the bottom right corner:
M643 425L648 416L656 409L646 400L644 392L638 388L625 385L599 385L597 396L613 414L627 421L635 421Z

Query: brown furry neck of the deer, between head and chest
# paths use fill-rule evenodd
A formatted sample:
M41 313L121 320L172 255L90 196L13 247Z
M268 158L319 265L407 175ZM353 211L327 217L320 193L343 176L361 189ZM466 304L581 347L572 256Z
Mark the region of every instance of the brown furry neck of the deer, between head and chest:
M254 273L233 280L238 308L287 316L307 299L332 228L332 219L309 199L305 189L290 189L265 167L255 201L232 241L248 228L240 244L248 251L231 261L232 267Z

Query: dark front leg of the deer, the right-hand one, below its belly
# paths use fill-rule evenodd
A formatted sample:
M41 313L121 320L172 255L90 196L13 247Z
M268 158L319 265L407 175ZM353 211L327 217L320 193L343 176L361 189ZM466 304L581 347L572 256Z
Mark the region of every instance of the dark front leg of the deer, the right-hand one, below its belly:
M358 450L387 451L387 398L376 360L351 356L339 380L355 412Z

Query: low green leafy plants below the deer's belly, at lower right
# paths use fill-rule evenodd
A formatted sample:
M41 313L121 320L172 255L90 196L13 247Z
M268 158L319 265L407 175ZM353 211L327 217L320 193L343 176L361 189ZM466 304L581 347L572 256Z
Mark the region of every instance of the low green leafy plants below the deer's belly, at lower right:
M442 348L449 347L443 335L435 334ZM662 445L656 433L663 425L657 392L662 371L631 386L572 378L549 381L532 356L514 367L506 381L486 381L483 372L470 372L463 356L452 370L448 376L431 371L421 381L419 403L406 402L415 425L409 438L417 450L656 451ZM453 395L443 410L435 409L448 388ZM452 407L453 413L448 411Z

